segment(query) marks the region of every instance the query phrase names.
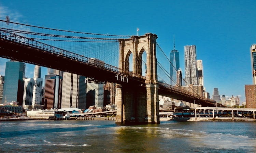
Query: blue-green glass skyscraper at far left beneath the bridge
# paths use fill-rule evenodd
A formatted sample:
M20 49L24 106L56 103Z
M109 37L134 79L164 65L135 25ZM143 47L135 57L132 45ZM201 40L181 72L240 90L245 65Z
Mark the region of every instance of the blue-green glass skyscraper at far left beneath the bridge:
M16 101L22 106L25 68L23 62L13 60L6 62L2 103Z

